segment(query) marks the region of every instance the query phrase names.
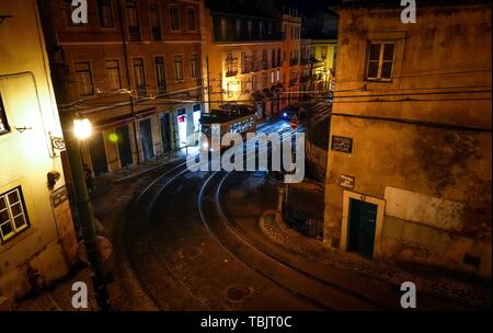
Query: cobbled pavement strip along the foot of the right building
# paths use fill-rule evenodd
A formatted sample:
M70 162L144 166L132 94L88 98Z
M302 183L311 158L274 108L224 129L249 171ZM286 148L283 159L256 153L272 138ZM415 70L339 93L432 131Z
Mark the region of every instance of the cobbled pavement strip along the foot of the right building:
M421 290L433 295L460 302L466 301L473 307L491 307L491 290L486 287L466 284L448 277L426 276L420 272L404 271L383 263L368 263L356 255L341 255L335 250L323 245L322 242L306 238L288 228L284 222L277 222L273 210L266 211L259 223L264 234L272 241L312 262L320 262L337 269L347 269L395 286L411 280L419 285Z

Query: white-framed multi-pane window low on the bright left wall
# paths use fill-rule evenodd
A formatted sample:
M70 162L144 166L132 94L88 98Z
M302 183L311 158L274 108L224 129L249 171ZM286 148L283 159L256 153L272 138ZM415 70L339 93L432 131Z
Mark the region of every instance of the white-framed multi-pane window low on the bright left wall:
M30 227L21 186L0 194L0 239L8 241Z

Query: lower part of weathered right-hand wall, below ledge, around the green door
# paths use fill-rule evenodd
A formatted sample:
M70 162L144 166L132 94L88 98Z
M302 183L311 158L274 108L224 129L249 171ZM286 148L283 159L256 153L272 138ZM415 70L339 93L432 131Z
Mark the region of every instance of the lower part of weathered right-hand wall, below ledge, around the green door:
M353 153L330 151L325 239L341 237L343 188L386 199L381 259L491 275L491 133L332 117Z

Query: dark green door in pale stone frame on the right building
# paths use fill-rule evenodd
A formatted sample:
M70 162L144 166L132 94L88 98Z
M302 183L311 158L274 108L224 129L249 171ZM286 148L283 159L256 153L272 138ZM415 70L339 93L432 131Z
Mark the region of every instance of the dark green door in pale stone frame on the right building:
M377 209L377 205L349 199L348 251L367 257L374 255Z

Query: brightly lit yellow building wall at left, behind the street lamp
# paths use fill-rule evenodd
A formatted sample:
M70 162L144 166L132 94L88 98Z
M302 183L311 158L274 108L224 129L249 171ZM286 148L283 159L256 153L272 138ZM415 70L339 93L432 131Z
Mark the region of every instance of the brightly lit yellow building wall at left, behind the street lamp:
M15 300L64 277L77 240L36 1L0 15L0 298Z

